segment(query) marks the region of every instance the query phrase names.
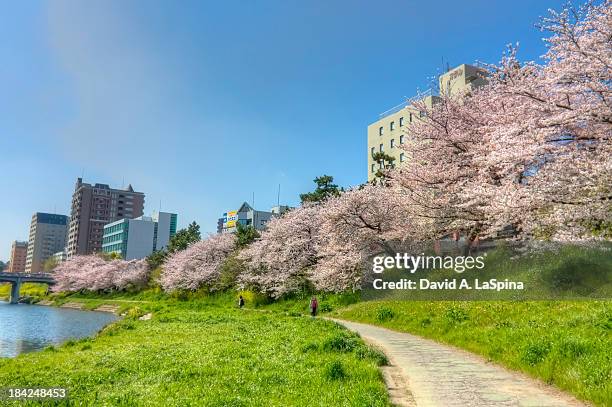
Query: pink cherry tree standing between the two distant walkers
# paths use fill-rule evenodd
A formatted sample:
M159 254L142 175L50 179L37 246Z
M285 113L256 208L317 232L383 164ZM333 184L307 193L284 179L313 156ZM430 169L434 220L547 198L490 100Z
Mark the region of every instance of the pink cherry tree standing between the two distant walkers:
M270 220L261 237L239 255L247 266L238 277L241 286L275 298L298 290L318 261L321 207L307 204Z

